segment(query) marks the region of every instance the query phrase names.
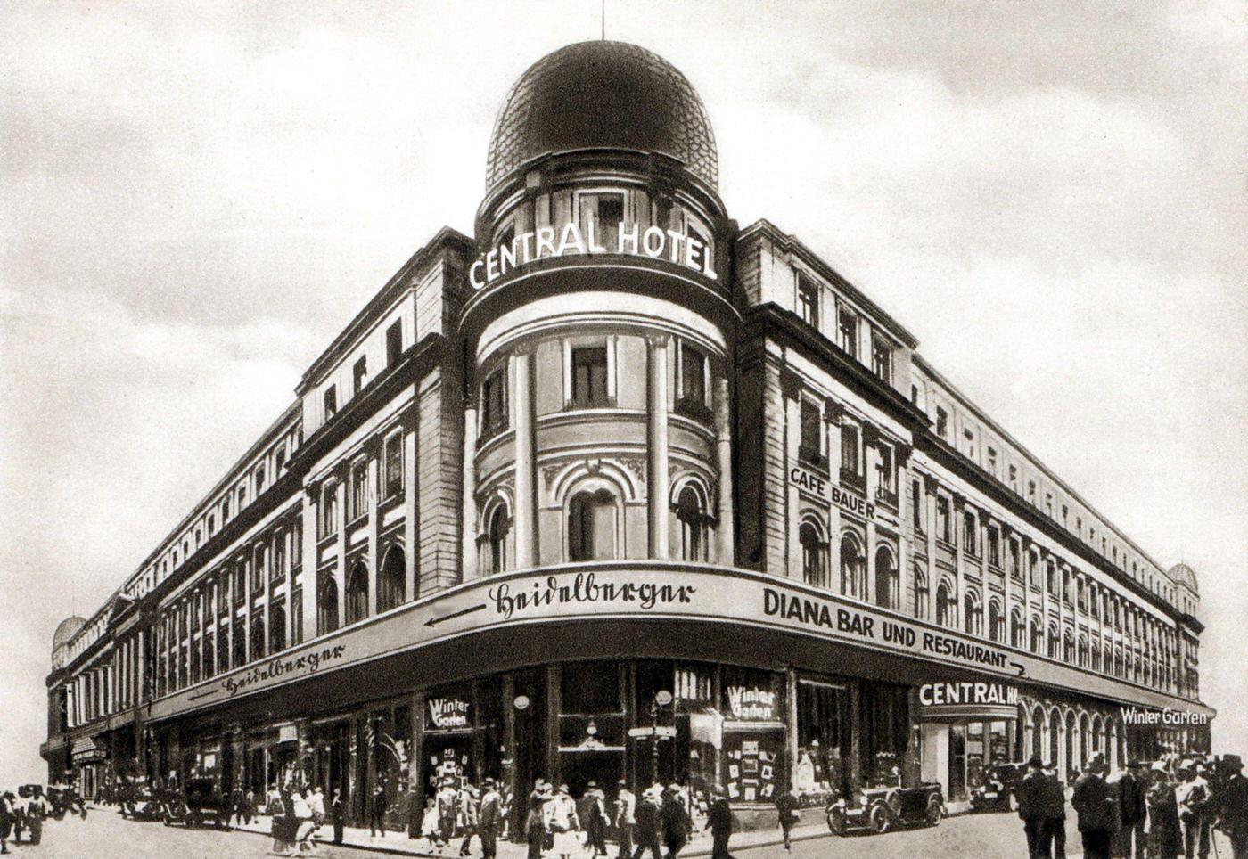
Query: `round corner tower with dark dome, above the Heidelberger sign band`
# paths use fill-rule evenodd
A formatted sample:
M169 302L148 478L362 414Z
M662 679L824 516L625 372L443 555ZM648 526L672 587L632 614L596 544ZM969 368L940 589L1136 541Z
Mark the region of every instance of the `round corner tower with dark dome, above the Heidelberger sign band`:
M464 338L466 577L733 564L729 222L675 67L590 41L494 122Z

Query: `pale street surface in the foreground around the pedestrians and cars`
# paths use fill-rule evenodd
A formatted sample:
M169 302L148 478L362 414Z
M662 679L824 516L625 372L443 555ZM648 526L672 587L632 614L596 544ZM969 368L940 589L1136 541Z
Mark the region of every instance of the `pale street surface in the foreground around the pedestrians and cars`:
M328 832L323 829L322 832ZM807 830L815 832L815 830ZM399 843L403 848L408 843ZM1067 820L1067 855L1081 855L1080 835L1073 819ZM387 853L396 853L387 844ZM396 845L397 847L397 845ZM614 845L610 845L614 848ZM1231 845L1218 837L1218 850L1229 859ZM165 827L161 823L125 820L112 810L94 809L86 820L66 818L50 820L44 829L44 843L11 845L15 855L34 859L233 859L235 857L266 857L272 840L247 832L213 832L212 829L185 829ZM523 848L499 845L500 859L519 859ZM473 843L473 855L479 857L479 842ZM780 845L731 848L741 859L825 859L846 857L851 859L1008 859L1023 857L1022 824L1013 814L968 814L950 818L938 828L910 829L885 835L851 835L849 838L807 838L795 840L792 853L786 854ZM386 855L376 849L318 845L322 859L361 859ZM454 857L447 849L443 855ZM583 859L574 857L573 859Z

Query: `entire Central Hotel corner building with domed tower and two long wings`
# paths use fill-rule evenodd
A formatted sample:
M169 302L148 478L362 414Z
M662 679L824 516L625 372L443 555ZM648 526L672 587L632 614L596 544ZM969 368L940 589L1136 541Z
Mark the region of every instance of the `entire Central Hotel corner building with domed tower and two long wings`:
M388 829L448 780L678 782L774 828L785 790L957 803L997 759L1207 747L1207 719L1123 717L1213 714L1196 573L945 382L870 284L738 223L679 70L605 40L540 59L484 187L473 234L416 251L55 631L54 780L317 784L347 825L384 797Z

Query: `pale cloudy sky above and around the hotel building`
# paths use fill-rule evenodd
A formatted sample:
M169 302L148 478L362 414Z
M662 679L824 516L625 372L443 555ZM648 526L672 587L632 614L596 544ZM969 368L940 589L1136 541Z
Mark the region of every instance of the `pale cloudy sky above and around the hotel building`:
M799 236L1163 566L1248 752L1248 6L607 0ZM89 616L442 226L598 0L0 11L0 784Z

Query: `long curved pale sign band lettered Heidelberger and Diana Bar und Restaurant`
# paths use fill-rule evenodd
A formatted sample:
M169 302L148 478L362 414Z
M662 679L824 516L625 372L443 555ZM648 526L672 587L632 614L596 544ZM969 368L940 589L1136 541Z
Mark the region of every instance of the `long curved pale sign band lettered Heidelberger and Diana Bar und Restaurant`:
M701 565L619 561L568 565L538 575L520 571L485 576L458 585L285 655L165 696L152 702L150 718L168 718L326 671L490 628L514 627L518 646L523 646L524 627L534 623L660 618L725 623L739 630L782 630L946 666L958 665L1003 678L1025 674L1028 682L1082 689L1139 706L1183 704L1142 686L1092 676L1077 667L909 620L787 578ZM644 630L639 627L639 632ZM437 716L456 719L459 716L454 711L448 706ZM436 722L433 712L426 716Z

